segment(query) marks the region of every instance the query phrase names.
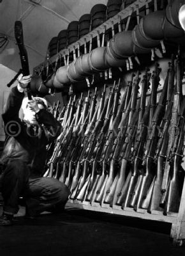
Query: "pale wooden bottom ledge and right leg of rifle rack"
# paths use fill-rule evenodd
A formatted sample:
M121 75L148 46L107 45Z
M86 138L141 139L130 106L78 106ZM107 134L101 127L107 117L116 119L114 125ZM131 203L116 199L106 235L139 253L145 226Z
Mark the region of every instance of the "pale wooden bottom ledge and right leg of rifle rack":
M131 207L121 209L121 206L113 205L110 207L108 204L80 202L78 200L68 200L66 204L68 207L77 207L88 211L107 212L110 214L118 214L122 216L129 216L143 220L161 221L166 223L172 223L170 238L173 239L175 246L182 246L185 241L185 180L182 189L181 204L179 212L171 212L168 216L163 215L161 211L147 212L145 209L137 209L135 211Z

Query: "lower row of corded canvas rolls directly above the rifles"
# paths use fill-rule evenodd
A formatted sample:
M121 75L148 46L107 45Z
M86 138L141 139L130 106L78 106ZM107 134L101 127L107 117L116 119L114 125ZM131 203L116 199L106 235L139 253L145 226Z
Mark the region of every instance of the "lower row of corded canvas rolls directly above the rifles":
M49 88L63 92L64 87L78 83L96 72L123 67L129 57L151 52L164 39L185 42L184 30L178 19L179 9L183 4L185 0L170 0L166 10L145 15L132 31L117 33L108 41L107 47L97 47L82 54L69 65L58 68L45 83L41 76L33 77L32 92L47 95Z

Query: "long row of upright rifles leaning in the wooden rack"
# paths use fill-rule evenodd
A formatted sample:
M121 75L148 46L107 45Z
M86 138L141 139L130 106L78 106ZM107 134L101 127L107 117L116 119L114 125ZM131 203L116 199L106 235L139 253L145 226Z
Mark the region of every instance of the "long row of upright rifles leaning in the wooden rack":
M184 181L182 70L178 52L161 93L156 61L152 74L149 68L142 77L133 72L122 90L120 79L114 82L107 99L105 86L99 102L96 89L92 98L71 96L60 113L64 129L45 176L64 182L71 200L178 212Z

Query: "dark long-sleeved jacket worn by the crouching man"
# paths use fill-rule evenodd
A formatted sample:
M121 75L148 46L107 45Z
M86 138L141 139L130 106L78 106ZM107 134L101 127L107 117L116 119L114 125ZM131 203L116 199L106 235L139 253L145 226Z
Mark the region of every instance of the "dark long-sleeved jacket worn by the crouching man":
M35 115L39 125L20 120L18 113L23 98L24 93L12 88L2 115L6 139L1 162L6 165L11 159L20 159L30 166L31 174L43 175L46 146L59 136L61 124L46 109Z

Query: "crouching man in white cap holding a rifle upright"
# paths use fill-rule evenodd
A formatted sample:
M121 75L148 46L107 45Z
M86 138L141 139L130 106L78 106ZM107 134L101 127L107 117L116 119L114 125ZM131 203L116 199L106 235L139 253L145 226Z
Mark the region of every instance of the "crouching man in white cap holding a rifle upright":
M26 215L32 218L51 207L64 207L70 194L59 180L42 177L46 146L59 136L62 127L47 111L47 100L24 98L30 81L31 76L18 77L2 115L6 139L1 157L0 190L4 205L0 225L12 225L20 195L26 200ZM18 116L21 106L23 120Z

